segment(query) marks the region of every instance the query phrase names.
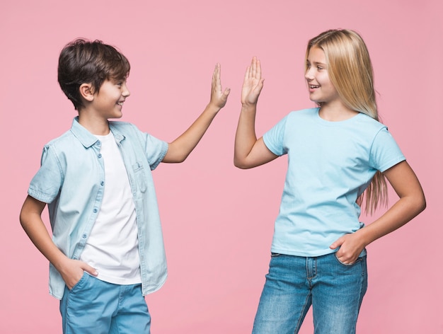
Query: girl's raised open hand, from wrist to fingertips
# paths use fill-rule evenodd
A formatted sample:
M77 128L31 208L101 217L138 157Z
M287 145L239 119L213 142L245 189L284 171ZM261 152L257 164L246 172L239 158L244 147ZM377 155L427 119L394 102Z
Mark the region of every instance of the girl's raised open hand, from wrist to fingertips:
M260 60L253 57L251 65L248 66L241 88L241 105L255 105L263 88L262 70Z

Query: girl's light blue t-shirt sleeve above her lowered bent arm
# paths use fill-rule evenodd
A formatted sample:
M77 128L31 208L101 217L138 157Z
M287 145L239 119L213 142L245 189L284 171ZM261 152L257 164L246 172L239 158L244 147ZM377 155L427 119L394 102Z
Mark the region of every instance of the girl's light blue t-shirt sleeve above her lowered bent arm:
M370 165L384 172L405 160L400 147L386 127L383 127L374 138L371 148Z

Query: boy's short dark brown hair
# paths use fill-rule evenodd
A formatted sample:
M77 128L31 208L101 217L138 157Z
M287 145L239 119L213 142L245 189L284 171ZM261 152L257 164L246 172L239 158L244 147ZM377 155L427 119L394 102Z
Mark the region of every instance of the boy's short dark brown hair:
M103 81L125 79L130 74L130 62L115 47L100 40L77 39L60 52L58 81L62 91L79 110L84 107L80 98L81 84L91 84L93 92Z

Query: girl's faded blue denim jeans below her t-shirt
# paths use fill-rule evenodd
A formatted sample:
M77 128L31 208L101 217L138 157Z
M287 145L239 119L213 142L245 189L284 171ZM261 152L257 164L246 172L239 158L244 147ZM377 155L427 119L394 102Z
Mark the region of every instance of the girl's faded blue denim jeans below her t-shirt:
M317 258L272 254L253 333L298 333L311 305L314 333L355 333L366 290L366 255L345 265L335 253Z

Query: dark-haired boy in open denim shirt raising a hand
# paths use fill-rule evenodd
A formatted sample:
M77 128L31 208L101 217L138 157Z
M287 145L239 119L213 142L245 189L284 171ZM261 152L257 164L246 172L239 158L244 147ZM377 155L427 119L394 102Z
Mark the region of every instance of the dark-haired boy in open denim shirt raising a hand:
M109 121L122 117L129 73L127 58L97 40L74 40L59 56L58 81L79 116L45 145L20 221L50 261L63 333L149 333L144 295L167 276L151 170L184 161L229 95L217 64L209 104L168 144ZM41 218L46 204L52 238Z

